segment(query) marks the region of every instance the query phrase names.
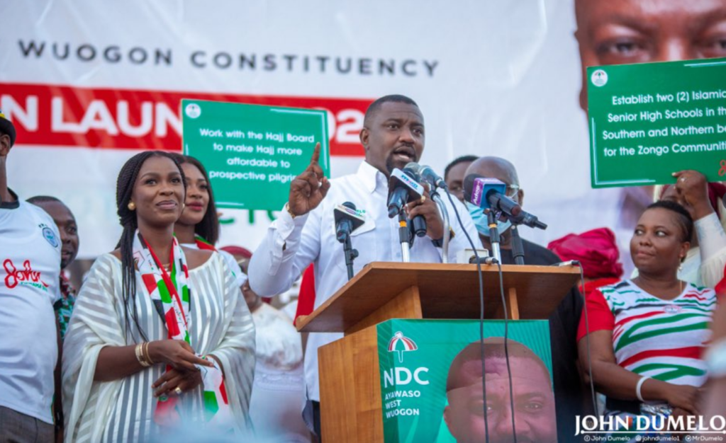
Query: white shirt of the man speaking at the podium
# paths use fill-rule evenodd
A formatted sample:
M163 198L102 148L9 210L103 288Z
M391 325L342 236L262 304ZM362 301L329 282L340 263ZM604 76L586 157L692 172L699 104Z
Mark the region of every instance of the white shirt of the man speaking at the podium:
M449 262L457 252L470 248L454 210L443 196L454 238L449 242ZM351 202L364 215L365 223L351 234L351 244L359 256L354 273L370 262L401 262L398 218L388 218L388 179L375 167L362 162L356 174L330 181L330 190L317 208L295 217L283 210L274 220L250 261L250 286L263 296L280 294L311 264L315 266L315 307L322 305L348 281L343 244L335 238L333 210ZM481 241L464 205L454 199L466 232L478 249ZM411 248L412 262L441 262L441 249L428 236L416 238ZM305 353L308 398L319 401L317 349L343 337L339 333L310 334Z

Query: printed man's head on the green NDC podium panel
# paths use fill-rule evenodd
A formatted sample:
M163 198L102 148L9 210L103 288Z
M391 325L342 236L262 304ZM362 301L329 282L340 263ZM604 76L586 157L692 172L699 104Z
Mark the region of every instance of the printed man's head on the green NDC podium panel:
M486 373L482 373L481 342L468 344L454 357L446 378L449 404L444 408L444 421L457 443L512 442L513 423L517 442L558 441L550 371L524 344L510 339L507 348L513 397L510 397L503 338L484 340ZM482 383L486 383L486 405ZM486 440L487 434L489 440Z

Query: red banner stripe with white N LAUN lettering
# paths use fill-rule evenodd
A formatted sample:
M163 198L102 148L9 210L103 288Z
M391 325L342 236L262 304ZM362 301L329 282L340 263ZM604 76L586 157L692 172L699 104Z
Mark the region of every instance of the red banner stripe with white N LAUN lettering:
M358 134L372 99L0 83L0 109L15 124L18 146L180 151L181 99L326 109L330 154L364 154Z

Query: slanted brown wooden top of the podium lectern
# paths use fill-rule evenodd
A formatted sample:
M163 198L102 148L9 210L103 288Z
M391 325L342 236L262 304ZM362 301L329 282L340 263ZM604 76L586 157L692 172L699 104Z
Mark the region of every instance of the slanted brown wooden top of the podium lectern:
M503 318L497 267L481 270L484 315ZM580 275L579 268L517 265L502 265L502 273L510 318L523 320L549 318ZM351 332L388 318L476 319L479 309L476 265L371 262L297 326L301 332Z

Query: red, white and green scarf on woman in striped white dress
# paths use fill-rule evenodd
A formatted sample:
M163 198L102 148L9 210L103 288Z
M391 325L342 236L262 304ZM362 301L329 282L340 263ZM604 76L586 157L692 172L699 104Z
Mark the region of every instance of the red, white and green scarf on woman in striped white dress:
M187 258L184 257L176 237L173 241L169 255L170 272L163 268L162 262L138 230L134 236L134 260L154 304L163 308L167 338L189 343L189 269ZM202 371L205 421L208 426L227 431L232 428L232 412L224 388L223 373L216 360L200 357L214 364L214 368L197 365ZM167 365L166 370L170 369L171 366ZM154 411L154 422L164 427L181 426L180 402L181 397L159 397Z

